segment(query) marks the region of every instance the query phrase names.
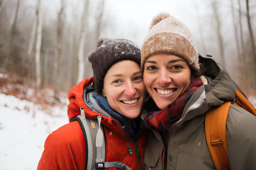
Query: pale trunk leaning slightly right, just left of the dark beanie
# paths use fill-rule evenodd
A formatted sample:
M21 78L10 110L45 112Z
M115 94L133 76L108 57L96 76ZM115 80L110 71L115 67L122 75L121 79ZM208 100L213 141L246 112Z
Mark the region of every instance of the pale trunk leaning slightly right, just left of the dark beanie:
M79 41L79 49L78 49L78 77L77 83L82 81L84 78L84 45L85 45L85 38L86 38L86 27L87 27L87 17L88 17L88 5L89 0L84 2L84 11L82 16L82 28L81 28L81 35Z

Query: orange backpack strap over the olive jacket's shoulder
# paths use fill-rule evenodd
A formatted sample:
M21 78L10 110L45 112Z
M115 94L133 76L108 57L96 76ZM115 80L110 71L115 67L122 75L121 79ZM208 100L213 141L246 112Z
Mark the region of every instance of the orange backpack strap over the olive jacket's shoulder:
M230 170L226 134L230 104L224 102L205 114L205 137L216 170Z

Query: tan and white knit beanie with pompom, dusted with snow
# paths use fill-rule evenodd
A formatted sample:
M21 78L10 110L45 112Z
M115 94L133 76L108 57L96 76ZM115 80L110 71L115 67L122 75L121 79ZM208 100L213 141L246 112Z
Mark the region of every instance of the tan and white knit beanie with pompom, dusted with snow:
M156 53L175 54L187 61L191 68L200 70L198 54L187 26L166 13L153 18L141 50L141 69L146 59Z

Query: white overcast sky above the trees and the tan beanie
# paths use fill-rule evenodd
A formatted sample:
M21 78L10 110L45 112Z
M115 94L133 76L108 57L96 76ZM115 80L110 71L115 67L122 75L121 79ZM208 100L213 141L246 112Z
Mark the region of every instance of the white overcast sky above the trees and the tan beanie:
M47 9L46 16L56 16L60 0L42 0L42 3L43 8ZM96 13L97 0L90 3L89 12ZM197 12L205 13L207 10L203 6L207 3L210 0L104 0L103 20L109 23L108 27L103 28L101 36L127 38L141 47L153 17L160 12L167 12L181 20L193 32ZM199 6L198 11L195 5ZM77 8L78 15L82 14L83 0L66 0L66 17L72 17L71 6Z

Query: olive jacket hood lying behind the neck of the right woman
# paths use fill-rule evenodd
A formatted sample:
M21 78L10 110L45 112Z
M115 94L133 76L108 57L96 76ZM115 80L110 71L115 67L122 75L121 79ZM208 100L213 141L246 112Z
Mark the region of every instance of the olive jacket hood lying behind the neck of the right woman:
M233 82L227 70L211 57L199 57L199 62L204 65L208 84L202 85L191 97L183 110L179 121L192 119L205 113L211 106L219 106L226 101L233 101L238 86ZM188 112L190 112L188 114Z

